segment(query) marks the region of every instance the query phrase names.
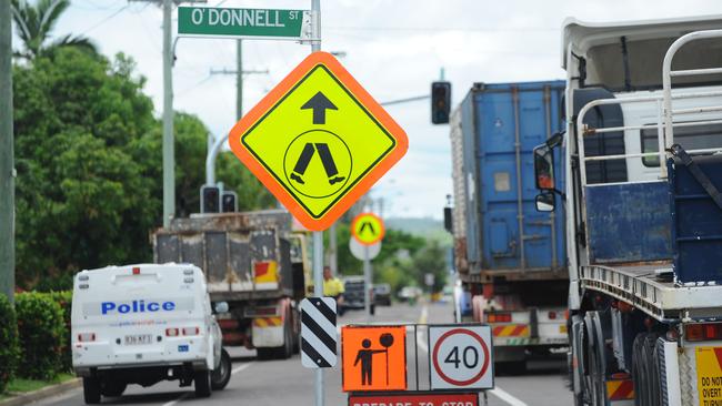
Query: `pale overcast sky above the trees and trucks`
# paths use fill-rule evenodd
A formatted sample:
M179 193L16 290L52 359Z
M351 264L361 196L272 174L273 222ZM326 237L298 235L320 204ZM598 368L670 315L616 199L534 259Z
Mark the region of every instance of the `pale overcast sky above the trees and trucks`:
M34 1L34 0L30 0ZM310 9L311 1L209 0L208 6ZM720 0L321 0L322 49L342 51L341 62L380 102L429 93L440 70L453 83L457 105L474 82L563 78L560 31L564 18L620 21L722 13ZM176 12L173 12L176 18ZM161 10L127 0L72 0L54 35L90 37L106 55L124 52L148 79L156 114L162 108ZM176 26L173 24L173 32ZM17 40L17 38L16 38ZM289 41L244 41L249 75L245 111L291 71L310 47ZM235 42L182 39L173 69L177 110L197 114L213 134L234 120L235 80L210 75L235 67ZM430 123L429 101L389 106L409 134L410 148L373 189L384 215L441 217L451 193L448 125ZM199 171L202 170L199 168ZM222 180L221 180L222 181Z

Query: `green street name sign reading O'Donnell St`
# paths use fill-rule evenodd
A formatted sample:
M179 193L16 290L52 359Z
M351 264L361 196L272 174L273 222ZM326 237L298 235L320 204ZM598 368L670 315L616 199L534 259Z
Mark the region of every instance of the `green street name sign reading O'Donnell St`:
M178 34L183 37L311 39L308 10L179 7Z

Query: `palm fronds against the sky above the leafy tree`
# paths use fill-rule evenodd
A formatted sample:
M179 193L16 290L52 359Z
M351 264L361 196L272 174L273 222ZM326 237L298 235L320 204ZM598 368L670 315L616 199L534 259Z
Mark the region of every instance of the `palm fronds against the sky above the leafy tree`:
M76 47L96 53L96 45L84 37L63 35L48 43L60 16L70 7L70 0L38 0L33 6L27 0L12 0L12 19L24 49L18 57L34 60L61 47Z

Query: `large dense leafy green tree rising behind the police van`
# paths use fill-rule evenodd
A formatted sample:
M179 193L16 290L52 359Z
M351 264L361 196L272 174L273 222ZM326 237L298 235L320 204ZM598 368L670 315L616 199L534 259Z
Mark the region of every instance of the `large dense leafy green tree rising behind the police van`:
M139 140L158 123L132 72L73 48L16 67L20 286L68 288L76 270L151 258L160 155Z

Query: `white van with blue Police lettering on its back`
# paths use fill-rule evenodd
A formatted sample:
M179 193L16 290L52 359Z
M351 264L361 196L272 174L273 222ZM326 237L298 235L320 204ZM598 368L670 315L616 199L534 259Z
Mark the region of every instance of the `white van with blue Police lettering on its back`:
M218 313L228 312L218 303ZM202 271L139 264L81 271L72 297L72 364L87 404L121 396L129 384L194 384L197 397L225 387L231 359L221 346Z

